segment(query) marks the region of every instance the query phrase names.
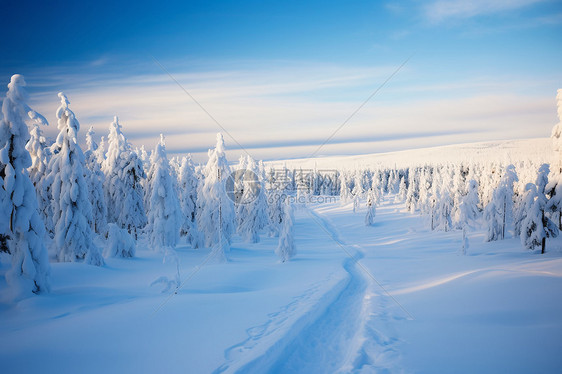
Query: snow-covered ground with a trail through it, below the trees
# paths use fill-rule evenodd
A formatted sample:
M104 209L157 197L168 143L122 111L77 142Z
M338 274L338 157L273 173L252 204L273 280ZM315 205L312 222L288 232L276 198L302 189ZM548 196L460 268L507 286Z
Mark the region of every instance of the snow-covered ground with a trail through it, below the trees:
M175 265L143 242L103 267L53 263L50 294L0 304L0 372L559 372L562 243L472 232L462 256L459 231L392 201L371 227L351 204L298 208L287 263L263 235L235 237L225 264L180 246L177 294L150 286Z

